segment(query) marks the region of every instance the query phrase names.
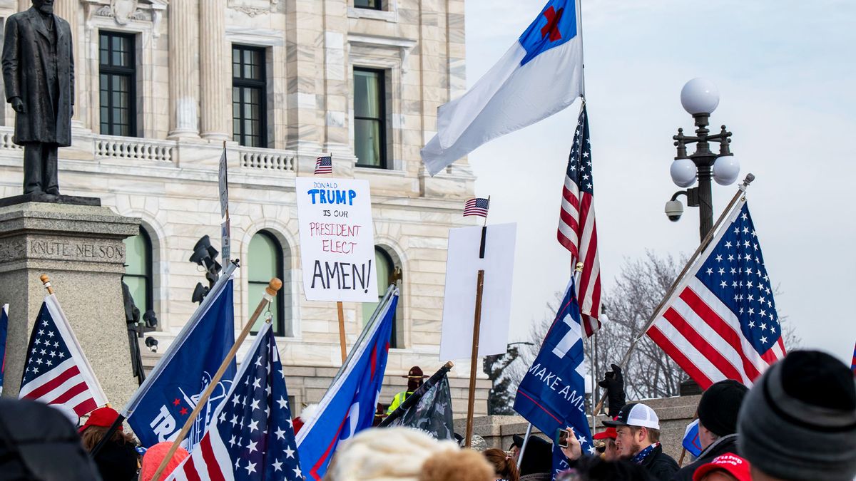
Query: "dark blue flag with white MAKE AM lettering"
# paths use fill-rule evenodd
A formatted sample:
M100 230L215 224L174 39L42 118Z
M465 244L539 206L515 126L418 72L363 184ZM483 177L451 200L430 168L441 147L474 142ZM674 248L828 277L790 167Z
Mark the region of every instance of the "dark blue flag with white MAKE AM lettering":
M520 381L514 411L550 437L558 429L574 428L583 453L593 454L594 446L586 419L584 360L580 305L574 294L574 279L571 278L538 357ZM562 451L554 447L554 477L557 471L567 467Z

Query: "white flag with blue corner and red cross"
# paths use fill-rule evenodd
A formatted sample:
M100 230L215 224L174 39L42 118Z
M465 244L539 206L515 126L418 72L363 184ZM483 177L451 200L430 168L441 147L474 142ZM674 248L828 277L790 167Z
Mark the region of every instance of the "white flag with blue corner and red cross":
M583 47L574 0L550 0L484 77L437 109L422 149L431 175L479 145L532 125L582 95Z

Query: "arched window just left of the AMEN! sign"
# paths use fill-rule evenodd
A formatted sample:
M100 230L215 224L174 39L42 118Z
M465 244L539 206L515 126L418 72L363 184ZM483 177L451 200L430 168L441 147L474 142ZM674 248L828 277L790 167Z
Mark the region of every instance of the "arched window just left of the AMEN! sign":
M282 245L276 241L276 237L270 232L259 230L250 240L248 257L247 284L252 311L262 300L262 295L265 294L265 288L270 279L277 277L284 281L282 276ZM270 322L273 324L273 332L276 336L291 336L291 326L286 323L285 293L282 290L284 289L280 290L270 304L270 312L273 314ZM259 331L263 322L265 322L265 318L259 317L256 325L253 326L253 333Z

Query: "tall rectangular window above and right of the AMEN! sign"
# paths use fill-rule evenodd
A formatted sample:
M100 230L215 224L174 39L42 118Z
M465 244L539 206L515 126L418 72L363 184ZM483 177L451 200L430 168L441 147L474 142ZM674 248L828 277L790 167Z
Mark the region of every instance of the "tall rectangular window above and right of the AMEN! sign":
M386 169L383 70L354 68L354 154L360 167Z

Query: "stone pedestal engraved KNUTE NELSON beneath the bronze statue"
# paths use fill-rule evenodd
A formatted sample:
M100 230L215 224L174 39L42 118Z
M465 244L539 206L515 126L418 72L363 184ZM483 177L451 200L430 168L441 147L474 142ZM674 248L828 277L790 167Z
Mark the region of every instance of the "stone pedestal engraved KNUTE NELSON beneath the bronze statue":
M30 330L47 294L39 276L47 274L104 394L121 409L137 387L122 304L122 240L140 232L140 219L91 205L98 199L76 199L83 200L0 201L0 304L9 303L3 395L17 397L21 387Z

